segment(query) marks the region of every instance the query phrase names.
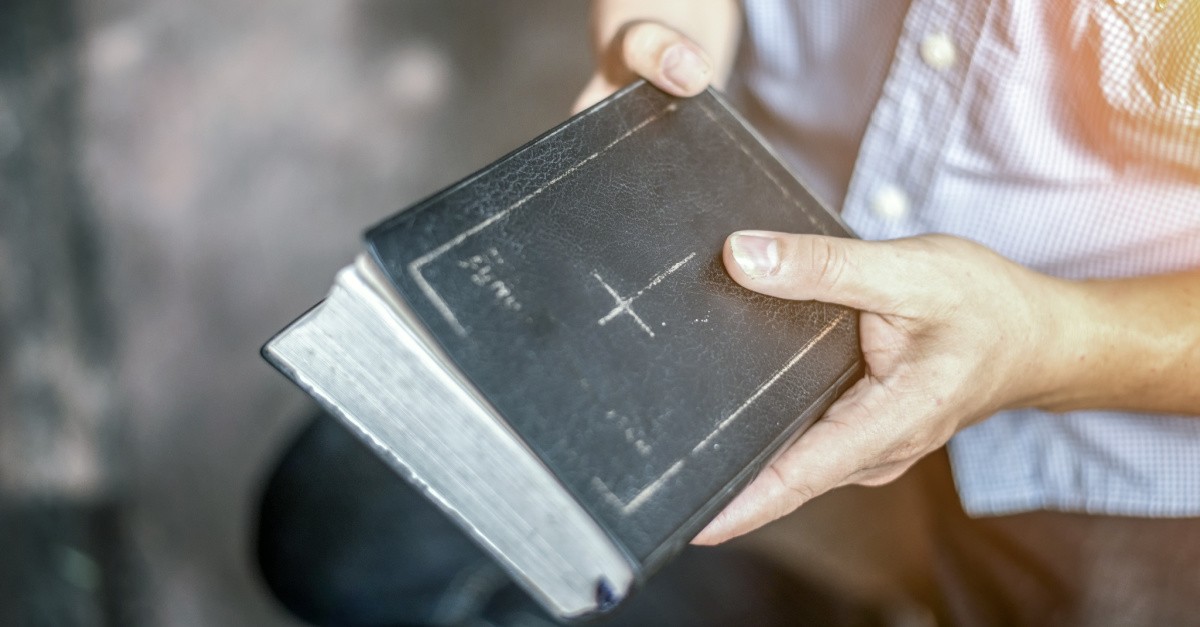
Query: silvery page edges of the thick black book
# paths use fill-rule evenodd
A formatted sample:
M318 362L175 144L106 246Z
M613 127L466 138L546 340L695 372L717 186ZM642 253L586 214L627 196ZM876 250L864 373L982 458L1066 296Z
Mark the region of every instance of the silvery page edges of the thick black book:
M600 609L601 585L624 597L628 559L380 293L377 271L365 257L342 269L266 353L556 614Z

